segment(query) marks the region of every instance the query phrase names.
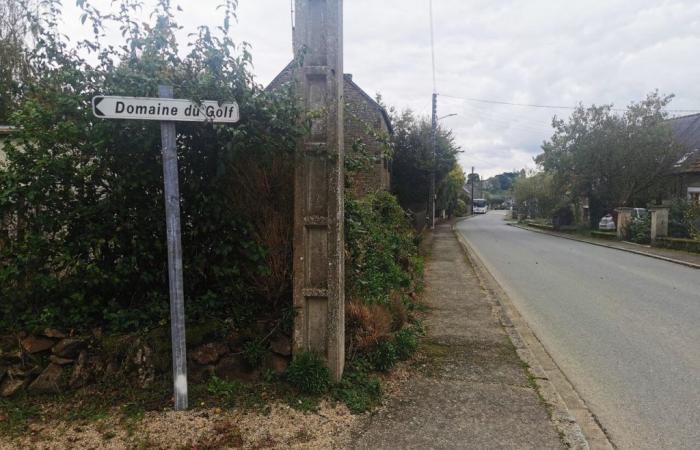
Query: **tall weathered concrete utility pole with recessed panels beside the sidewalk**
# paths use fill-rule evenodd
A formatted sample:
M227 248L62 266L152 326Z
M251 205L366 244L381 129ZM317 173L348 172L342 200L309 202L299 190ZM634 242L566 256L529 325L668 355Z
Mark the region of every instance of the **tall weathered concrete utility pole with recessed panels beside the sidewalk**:
M294 176L294 350L325 358L339 381L345 362L343 222L343 1L296 0L295 70L311 130Z

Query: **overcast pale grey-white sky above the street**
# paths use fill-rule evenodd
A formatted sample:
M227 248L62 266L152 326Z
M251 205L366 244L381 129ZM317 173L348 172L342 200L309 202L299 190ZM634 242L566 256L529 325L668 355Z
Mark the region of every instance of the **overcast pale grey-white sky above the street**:
M87 36L74 2L65 3L64 32ZM91 3L108 10L110 0ZM220 23L219 3L173 0L183 33ZM232 37L251 45L259 83L292 58L290 9L290 0L239 0ZM658 89L675 94L669 109L700 112L700 1L433 0L433 17L438 115L456 114L440 123L452 129L465 171L535 168L552 117L569 114L473 99L625 107ZM345 73L389 106L429 115L429 18L429 0L346 0Z

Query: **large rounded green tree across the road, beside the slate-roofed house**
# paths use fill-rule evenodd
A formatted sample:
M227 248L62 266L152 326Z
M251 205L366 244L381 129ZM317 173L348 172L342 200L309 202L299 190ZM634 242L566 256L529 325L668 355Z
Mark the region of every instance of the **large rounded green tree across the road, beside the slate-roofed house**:
M682 152L664 122L672 98L653 92L622 114L581 105L568 121L555 117L536 162L572 201L589 198L592 221L618 206L646 205Z

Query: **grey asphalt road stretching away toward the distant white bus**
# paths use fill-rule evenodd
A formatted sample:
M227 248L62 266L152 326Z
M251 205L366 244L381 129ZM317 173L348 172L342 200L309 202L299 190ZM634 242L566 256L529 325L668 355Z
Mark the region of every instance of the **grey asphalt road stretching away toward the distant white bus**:
M457 224L622 449L700 448L700 271L506 225Z

